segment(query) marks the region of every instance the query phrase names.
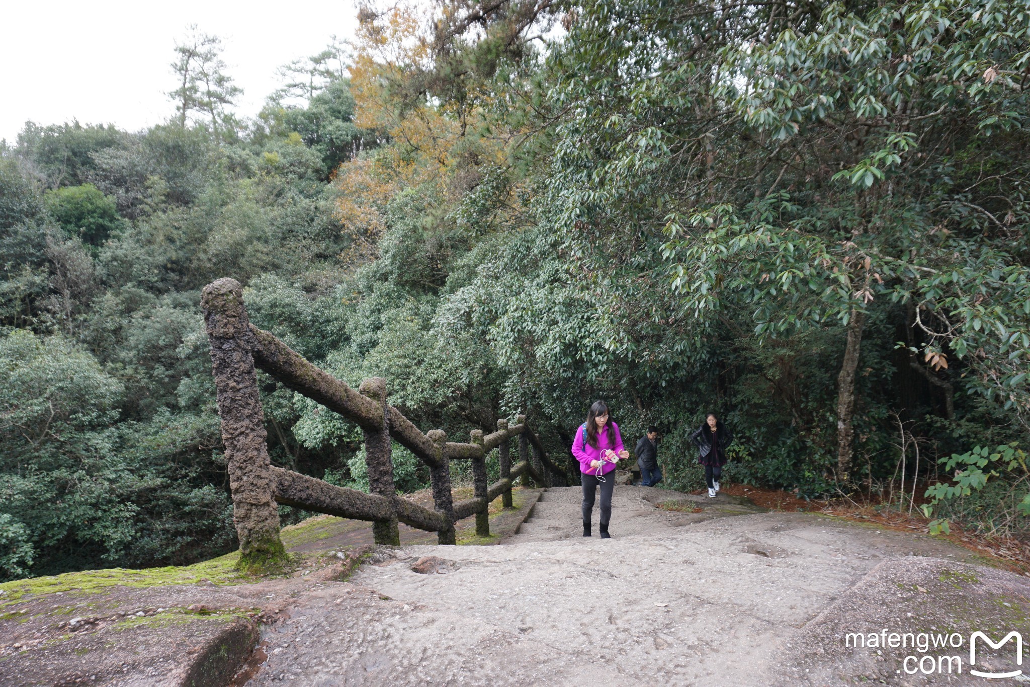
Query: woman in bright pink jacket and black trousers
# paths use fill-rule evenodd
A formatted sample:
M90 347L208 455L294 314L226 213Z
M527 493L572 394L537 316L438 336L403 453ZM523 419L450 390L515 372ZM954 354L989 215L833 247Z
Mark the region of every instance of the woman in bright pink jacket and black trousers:
M590 537L590 514L600 486L600 538L611 539L608 522L612 518L612 490L615 488L615 462L629 457L622 445L619 425L609 421L608 406L598 401L590 406L586 422L573 440L573 455L580 462L583 480L583 536Z

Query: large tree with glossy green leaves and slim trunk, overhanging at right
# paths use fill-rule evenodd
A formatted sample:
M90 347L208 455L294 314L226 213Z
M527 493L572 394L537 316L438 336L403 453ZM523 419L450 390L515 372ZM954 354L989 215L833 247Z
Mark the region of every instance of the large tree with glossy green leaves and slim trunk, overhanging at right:
M1023 417L1028 11L587 3L551 57L570 115L550 207L596 279L664 233L700 321L747 308L763 341L844 328L840 480L874 302L912 302L934 371L951 347Z

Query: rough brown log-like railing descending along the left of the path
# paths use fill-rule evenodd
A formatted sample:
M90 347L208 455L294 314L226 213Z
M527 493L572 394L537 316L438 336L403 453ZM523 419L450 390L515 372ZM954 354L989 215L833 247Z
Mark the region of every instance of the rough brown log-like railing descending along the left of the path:
M315 367L274 335L249 322L243 290L235 279L218 279L201 299L211 342L221 437L229 462L234 523L240 540L240 566L260 568L285 556L279 539L277 504L356 520L370 520L377 544L400 544L398 523L436 531L440 544L454 544L454 522L476 516L476 534L488 536L487 507L497 496L512 506L512 485L536 482L568 484L525 415L515 424L497 420L496 432L473 430L470 443L447 441L441 430L426 434L386 400L381 378L366 379L355 391ZM258 394L255 368L356 423L365 433L370 493L340 487L276 468L268 454L265 414ZM512 465L509 442L518 438L518 460ZM392 442L414 453L430 469L434 510L399 495L393 488ZM486 455L497 449L501 479L487 484ZM530 456L530 449L533 455ZM450 461L470 460L473 499L453 503Z

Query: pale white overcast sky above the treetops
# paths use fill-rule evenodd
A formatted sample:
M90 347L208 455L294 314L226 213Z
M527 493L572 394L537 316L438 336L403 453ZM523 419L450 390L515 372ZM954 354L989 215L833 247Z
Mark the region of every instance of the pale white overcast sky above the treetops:
M280 85L276 68L315 55L330 35L350 38L353 0L264 5L224 0L10 2L0 9L0 138L26 119L114 124L137 130L173 110L170 64L186 26L220 36L229 73L243 88L237 112L251 115Z

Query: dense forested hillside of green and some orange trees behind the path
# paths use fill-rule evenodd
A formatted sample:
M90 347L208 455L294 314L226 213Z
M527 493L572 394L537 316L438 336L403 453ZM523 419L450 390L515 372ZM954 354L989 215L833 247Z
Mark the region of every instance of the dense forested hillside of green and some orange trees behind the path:
M199 307L222 276L423 430L528 409L561 450L600 398L693 488L713 411L731 479L954 477L931 517L1026 526L1030 2L359 20L252 119L198 34L166 124L0 149L0 578L236 547ZM356 425L260 381L274 462L367 487Z

